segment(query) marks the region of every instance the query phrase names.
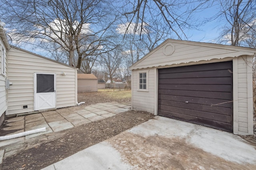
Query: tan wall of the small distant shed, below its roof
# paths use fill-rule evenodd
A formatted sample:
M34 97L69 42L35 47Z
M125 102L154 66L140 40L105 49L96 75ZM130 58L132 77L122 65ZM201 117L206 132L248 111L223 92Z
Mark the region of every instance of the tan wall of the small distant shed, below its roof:
M97 92L98 88L98 79L97 80L77 80L77 92Z

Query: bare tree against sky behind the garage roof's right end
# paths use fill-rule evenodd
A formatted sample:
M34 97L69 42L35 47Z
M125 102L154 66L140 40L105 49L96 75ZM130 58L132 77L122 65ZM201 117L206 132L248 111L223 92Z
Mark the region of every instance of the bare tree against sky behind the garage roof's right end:
M220 14L215 17L226 20L220 42L255 47L255 16L255 0L220 0Z

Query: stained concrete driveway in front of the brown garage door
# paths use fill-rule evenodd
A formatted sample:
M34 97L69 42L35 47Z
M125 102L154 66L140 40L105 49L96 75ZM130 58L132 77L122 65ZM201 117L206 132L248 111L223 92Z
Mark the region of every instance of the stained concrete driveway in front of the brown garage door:
M255 170L256 147L231 133L156 116L44 168L68 169Z

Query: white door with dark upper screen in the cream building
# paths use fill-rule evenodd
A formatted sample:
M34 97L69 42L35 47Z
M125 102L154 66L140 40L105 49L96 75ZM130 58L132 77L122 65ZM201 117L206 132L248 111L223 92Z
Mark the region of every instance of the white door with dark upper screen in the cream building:
M35 110L55 108L55 74L35 73L34 76Z

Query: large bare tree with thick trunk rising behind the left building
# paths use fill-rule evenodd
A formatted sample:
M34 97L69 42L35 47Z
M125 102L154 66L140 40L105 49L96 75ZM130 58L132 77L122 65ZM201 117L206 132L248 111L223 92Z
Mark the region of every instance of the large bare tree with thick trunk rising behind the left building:
M80 68L87 55L106 52L113 45L108 29L115 14L108 0L2 0L1 17L8 21L17 42L48 47L59 45L68 52L68 63ZM52 46L54 47L54 46ZM50 49L54 51L55 49ZM109 47L108 47L109 50Z

